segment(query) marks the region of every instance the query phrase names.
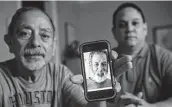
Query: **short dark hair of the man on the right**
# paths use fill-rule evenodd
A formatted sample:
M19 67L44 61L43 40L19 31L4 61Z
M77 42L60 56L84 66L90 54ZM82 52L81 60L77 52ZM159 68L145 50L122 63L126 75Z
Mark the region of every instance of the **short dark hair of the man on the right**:
M124 9L124 8L127 8L127 7L131 7L131 8L134 8L136 9L138 12L140 12L141 16L142 16L142 19L143 19L143 22L145 23L146 22L146 19L145 19L145 16L143 14L143 11L142 9L137 6L136 4L134 3L123 3L121 4L117 9L116 11L113 13L113 19L112 19L112 24L113 24L113 27L115 27L116 25L116 16L117 14L119 13L120 10Z

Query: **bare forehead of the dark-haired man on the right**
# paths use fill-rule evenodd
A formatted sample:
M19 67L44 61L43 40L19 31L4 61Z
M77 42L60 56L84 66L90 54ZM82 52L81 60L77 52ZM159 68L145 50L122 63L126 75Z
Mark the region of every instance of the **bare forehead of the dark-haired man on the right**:
M141 16L141 13L136 10L135 8L132 8L132 7L126 7L122 10L120 10L117 14L117 17L116 17L116 21L128 21L128 20L141 20L143 21L142 19L142 16Z

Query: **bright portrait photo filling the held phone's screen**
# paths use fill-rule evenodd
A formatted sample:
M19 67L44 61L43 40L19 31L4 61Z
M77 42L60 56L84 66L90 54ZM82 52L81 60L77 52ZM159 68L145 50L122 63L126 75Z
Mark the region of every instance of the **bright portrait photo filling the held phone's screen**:
M84 52L87 92L112 89L108 49Z

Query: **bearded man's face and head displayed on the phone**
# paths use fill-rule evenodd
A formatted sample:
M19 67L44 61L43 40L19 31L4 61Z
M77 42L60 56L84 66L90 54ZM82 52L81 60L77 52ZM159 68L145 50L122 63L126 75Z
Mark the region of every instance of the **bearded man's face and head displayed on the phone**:
M102 83L107 79L108 65L105 52L94 52L91 57L92 79Z

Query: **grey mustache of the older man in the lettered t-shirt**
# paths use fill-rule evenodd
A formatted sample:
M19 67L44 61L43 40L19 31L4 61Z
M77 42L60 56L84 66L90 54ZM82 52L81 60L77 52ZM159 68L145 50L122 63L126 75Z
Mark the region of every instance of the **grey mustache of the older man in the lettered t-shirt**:
M42 49L35 49L35 48L30 48L30 49L25 49L24 51L24 55L28 56L28 55L41 55L41 56L45 56L45 52Z

